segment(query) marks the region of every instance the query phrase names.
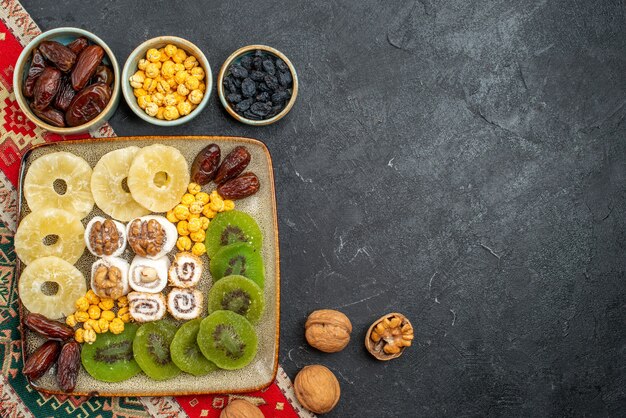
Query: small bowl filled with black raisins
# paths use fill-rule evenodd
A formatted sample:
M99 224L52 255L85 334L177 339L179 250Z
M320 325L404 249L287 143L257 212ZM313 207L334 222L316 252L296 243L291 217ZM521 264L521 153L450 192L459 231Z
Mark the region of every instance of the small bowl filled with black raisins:
M231 54L217 78L217 94L226 111L248 125L282 119L298 95L298 76L291 61L265 45L248 45Z

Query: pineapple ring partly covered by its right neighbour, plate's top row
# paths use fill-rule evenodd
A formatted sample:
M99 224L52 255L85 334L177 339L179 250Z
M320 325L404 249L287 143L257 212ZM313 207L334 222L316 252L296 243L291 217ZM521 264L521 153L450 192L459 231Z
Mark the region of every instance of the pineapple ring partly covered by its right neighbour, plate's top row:
M139 147L130 146L111 151L103 155L93 168L91 191L96 205L118 221L128 222L150 213L122 186L139 150Z

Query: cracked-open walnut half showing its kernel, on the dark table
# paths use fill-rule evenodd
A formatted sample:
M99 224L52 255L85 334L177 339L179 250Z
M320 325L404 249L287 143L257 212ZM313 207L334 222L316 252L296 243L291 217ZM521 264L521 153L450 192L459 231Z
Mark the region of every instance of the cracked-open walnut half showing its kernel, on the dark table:
M413 336L413 326L404 315L389 313L367 330L365 347L378 360L391 360L411 346Z

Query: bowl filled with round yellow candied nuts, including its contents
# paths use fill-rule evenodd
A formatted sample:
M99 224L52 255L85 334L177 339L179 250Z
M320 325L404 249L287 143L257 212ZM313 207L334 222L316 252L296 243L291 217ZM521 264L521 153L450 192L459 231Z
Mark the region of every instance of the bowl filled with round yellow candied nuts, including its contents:
M158 126L189 122L206 106L213 76L206 56L176 36L148 39L122 70L122 93L133 112Z

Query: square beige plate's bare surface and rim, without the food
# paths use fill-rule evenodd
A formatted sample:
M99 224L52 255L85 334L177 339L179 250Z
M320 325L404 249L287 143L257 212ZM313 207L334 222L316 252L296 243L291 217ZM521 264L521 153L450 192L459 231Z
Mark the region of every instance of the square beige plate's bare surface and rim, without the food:
M258 193L237 201L237 210L246 212L256 219L263 235L261 256L265 263L265 310L255 325L258 336L258 351L254 360L246 367L238 370L218 369L204 376L181 373L173 379L163 381L153 380L141 373L122 382L110 383L94 379L84 368L81 368L76 387L70 394L82 396L161 396L238 393L262 389L274 380L278 368L280 326L279 245L272 161L263 143L250 138L227 136L147 136L42 144L26 153L22 160L18 199L19 219L21 221L30 213L24 197L24 178L31 163L39 157L66 151L83 158L91 167L94 167L103 155L111 151L129 146L146 147L154 144L163 144L178 149L191 167L196 155L211 143L219 145L222 149L222 155L228 154L237 146L245 146L251 155L248 169L258 175L262 185ZM87 225L96 216L105 216L105 214L97 206L94 206L94 209L83 218L83 224ZM175 253L176 248L169 254L170 258ZM129 249L126 249L121 257L130 261L132 253ZM206 256L204 258L206 260ZM91 267L96 260L97 258L89 251L85 251L75 263L75 266L85 277L87 288L89 287L88 280L91 275ZM206 261L206 264L208 264L208 260ZM24 264L18 261L18 277L21 276L24 268ZM211 286L209 269L205 269L202 275L198 290L206 295ZM20 304L20 310L21 317L25 318L28 310L22 304ZM201 317L206 315L207 310L206 306L204 306ZM174 323L177 327L183 324L183 322ZM32 332L22 323L22 345L27 358L44 341L43 337ZM67 394L59 388L54 373L46 373L43 377L31 381L31 384L35 389L42 392Z

